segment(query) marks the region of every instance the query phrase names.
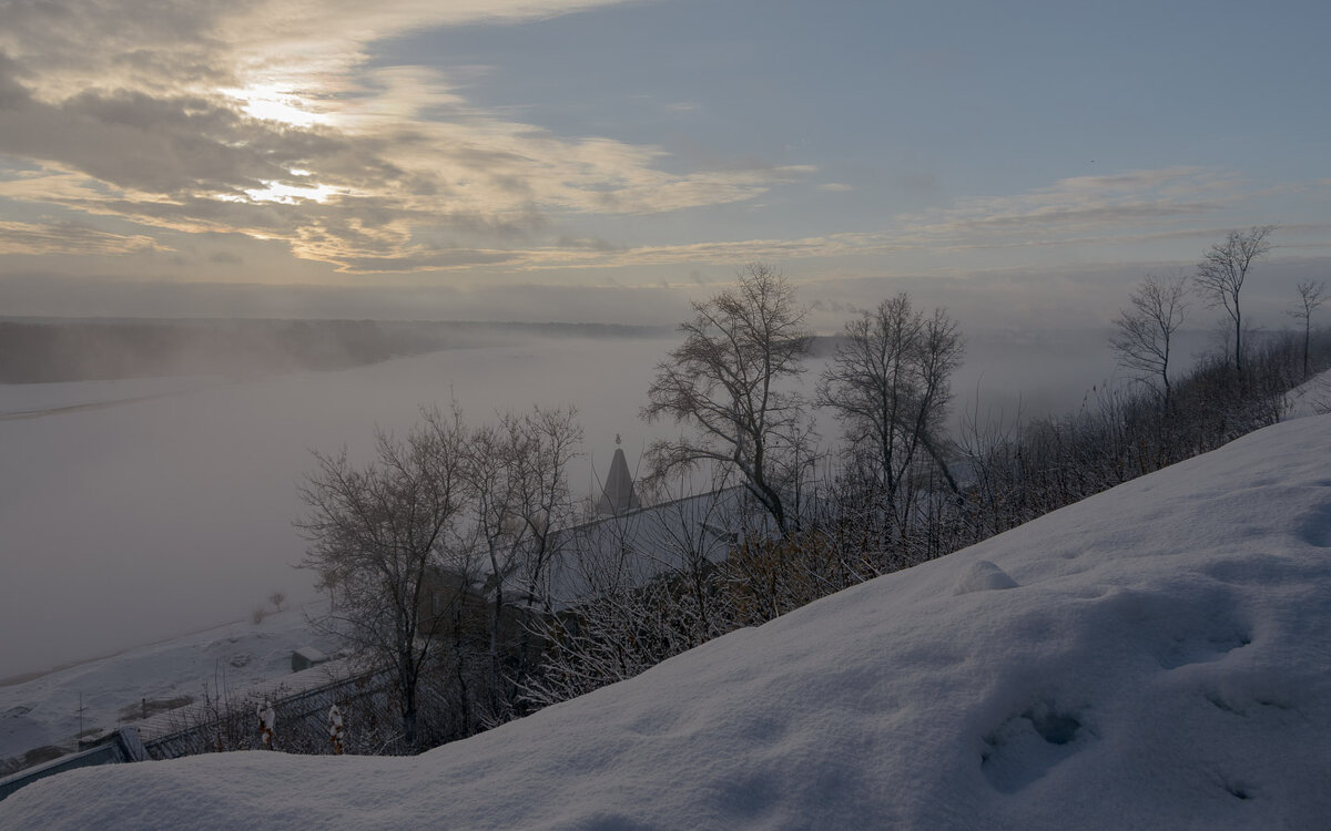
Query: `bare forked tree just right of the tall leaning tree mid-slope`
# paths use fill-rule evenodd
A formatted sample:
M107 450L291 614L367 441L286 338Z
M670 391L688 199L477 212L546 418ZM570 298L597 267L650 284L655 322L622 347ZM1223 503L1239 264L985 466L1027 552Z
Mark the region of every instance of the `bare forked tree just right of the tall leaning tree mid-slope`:
M898 529L905 524L902 484L922 453L957 489L937 436L952 398L948 382L964 352L957 323L945 310L925 318L901 293L845 324L823 374L819 403L845 425L852 457L873 459L869 473Z

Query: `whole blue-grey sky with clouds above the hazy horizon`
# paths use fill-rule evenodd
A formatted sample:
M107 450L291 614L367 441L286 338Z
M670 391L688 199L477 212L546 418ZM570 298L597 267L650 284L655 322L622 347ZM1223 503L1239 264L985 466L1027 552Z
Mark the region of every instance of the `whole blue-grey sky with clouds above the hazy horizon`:
M1331 277L1331 7L0 0L0 315L1099 326ZM1258 289L1256 291L1260 291Z

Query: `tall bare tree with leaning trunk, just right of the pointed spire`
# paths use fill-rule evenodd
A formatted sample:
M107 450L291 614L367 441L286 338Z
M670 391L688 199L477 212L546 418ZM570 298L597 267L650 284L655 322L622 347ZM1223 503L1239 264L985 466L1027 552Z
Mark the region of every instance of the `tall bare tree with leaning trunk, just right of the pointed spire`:
M656 366L642 411L647 421L671 417L692 436L648 448L654 477L700 461L736 468L748 492L780 533L791 528L791 500L811 461L812 428L805 398L788 388L804 372L811 334L795 289L769 266L752 263L739 285L693 303L681 323L684 343Z

